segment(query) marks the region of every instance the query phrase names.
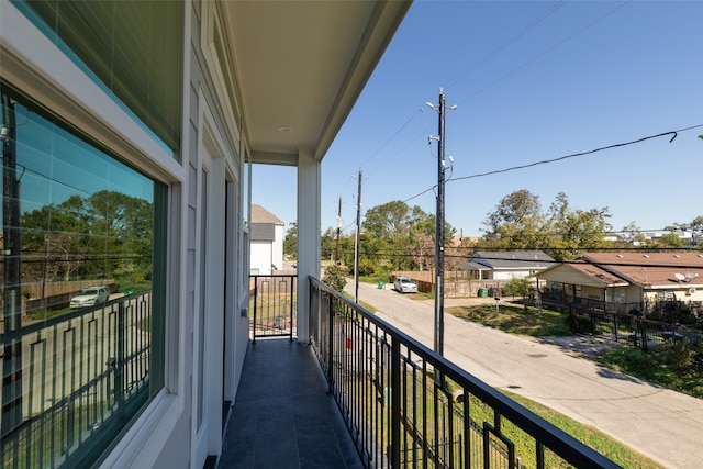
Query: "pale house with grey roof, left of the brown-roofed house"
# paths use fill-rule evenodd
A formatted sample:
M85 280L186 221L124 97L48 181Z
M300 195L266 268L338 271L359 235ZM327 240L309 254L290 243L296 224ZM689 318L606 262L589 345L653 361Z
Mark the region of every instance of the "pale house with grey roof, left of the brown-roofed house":
M542 250L479 250L457 268L476 280L510 280L534 276L554 264Z

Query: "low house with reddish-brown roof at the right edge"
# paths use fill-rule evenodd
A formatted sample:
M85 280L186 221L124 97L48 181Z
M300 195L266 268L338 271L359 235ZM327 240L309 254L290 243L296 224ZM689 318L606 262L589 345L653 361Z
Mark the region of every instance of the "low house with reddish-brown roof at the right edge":
M658 301L703 301L703 254L584 253L537 275L546 298L562 304L601 302L621 312Z

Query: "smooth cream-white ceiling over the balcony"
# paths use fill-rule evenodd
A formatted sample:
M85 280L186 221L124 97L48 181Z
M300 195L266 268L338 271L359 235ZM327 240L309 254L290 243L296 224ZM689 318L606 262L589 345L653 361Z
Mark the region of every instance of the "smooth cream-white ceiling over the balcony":
M253 163L322 159L409 2L221 1Z

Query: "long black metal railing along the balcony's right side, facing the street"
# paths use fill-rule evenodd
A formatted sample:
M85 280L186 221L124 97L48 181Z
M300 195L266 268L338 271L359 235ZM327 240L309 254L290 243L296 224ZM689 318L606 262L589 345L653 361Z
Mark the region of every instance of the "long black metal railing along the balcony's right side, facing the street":
M314 278L310 332L366 467L620 467Z

